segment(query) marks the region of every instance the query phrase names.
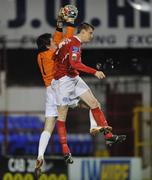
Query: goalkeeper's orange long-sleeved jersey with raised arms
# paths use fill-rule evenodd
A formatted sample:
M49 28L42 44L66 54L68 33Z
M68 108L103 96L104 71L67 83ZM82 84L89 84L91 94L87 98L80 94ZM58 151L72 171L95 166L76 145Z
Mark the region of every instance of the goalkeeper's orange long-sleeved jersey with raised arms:
M55 31L53 41L58 45L63 38L71 37L73 33L74 27L71 26L66 28L64 37L62 32ZM53 55L55 50L56 49L48 49L46 51L40 52L37 57L38 65L46 87L51 85L51 81L54 78L55 61L53 60Z

